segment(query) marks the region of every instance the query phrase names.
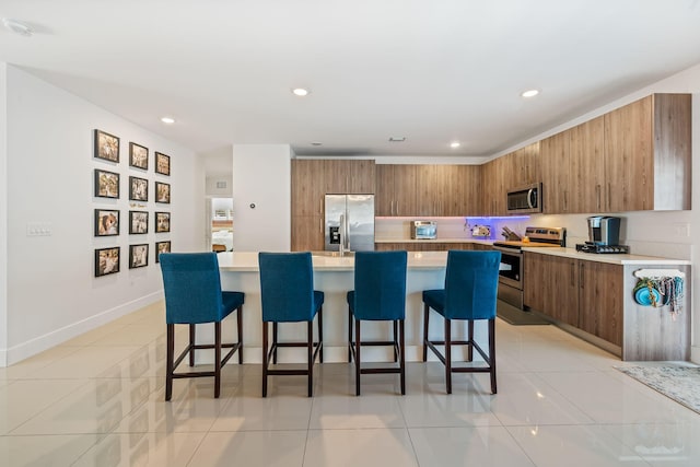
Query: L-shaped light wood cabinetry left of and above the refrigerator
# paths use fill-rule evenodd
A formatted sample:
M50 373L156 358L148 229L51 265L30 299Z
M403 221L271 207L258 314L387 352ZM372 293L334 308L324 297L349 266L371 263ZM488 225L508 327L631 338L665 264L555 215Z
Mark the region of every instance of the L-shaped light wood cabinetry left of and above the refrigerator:
M372 160L292 160L293 252L324 249L326 194L374 194Z

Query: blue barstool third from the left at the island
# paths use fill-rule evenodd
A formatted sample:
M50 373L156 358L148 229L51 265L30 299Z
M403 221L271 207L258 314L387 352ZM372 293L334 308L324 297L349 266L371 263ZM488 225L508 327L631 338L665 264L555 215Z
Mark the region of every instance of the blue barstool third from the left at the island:
M405 327L406 317L406 252L358 252L354 256L354 290L348 292L348 361L354 358L355 395L360 395L360 375L371 373L398 373L401 394L406 394ZM354 341L352 325L354 318ZM362 320L390 320L393 340L362 341ZM398 328L398 340L397 340ZM399 366L362 369L362 346L392 346L394 362Z

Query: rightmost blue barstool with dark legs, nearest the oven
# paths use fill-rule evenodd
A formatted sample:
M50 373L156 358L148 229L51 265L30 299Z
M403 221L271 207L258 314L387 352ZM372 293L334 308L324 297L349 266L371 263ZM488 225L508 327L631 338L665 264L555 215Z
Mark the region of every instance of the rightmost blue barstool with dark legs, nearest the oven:
M452 373L483 372L491 374L491 393L495 386L495 306L499 284L500 252L463 252L447 253L445 288L423 291L423 362L428 359L428 349L445 365L447 394L452 394ZM433 308L445 318L445 340L435 341L428 338L428 318ZM452 340L451 322L467 320L467 340ZM474 340L474 322L489 322L489 353ZM487 366L452 366L452 346L467 346L467 361L471 361L474 349L479 352ZM444 346L443 355L435 346Z

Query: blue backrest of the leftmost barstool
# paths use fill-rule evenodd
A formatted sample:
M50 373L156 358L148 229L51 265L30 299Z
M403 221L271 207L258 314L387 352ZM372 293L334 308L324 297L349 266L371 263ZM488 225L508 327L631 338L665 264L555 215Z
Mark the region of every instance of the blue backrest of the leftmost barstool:
M167 324L212 323L223 318L215 253L161 253Z

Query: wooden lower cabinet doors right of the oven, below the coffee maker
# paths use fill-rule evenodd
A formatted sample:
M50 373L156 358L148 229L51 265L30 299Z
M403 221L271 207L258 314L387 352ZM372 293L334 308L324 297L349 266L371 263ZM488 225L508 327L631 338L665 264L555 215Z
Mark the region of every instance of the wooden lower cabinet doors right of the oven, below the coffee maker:
M614 346L622 346L622 266L525 252L524 303Z

